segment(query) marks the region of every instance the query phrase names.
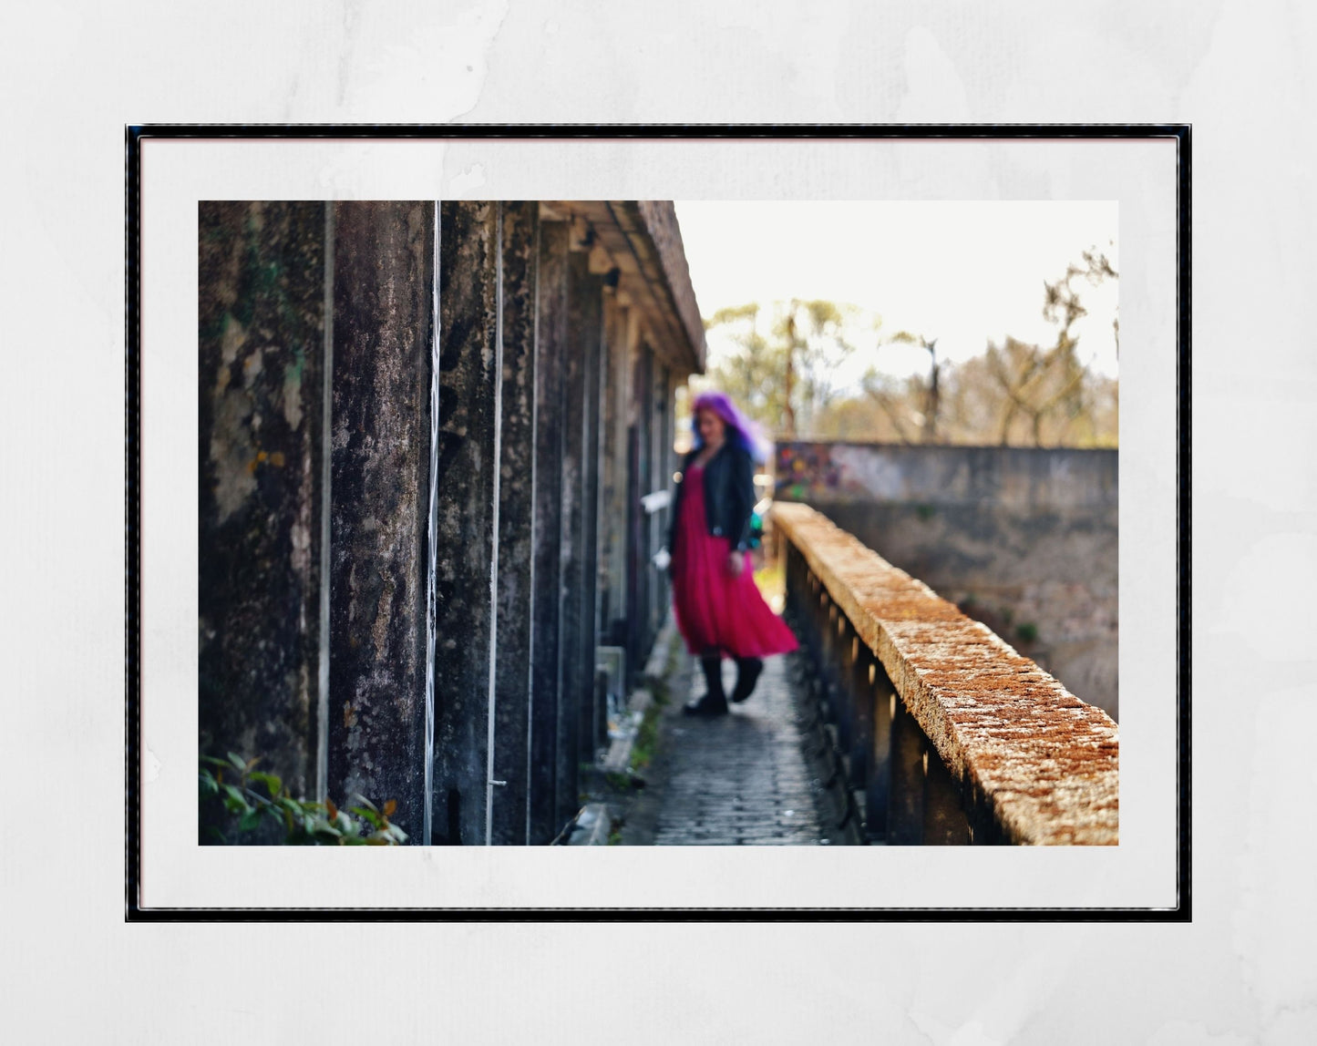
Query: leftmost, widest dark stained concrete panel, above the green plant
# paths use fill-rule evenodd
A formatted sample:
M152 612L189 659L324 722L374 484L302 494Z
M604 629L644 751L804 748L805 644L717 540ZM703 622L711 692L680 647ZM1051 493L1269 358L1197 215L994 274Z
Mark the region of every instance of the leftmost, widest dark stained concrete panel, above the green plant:
M325 207L199 208L199 746L316 790Z

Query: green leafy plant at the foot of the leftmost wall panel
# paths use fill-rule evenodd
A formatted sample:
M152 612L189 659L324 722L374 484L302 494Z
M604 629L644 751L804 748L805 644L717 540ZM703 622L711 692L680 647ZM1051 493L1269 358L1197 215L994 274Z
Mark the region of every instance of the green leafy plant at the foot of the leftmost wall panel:
M407 833L389 819L398 809L396 800L389 800L381 809L365 796L356 796L358 805L341 810L328 797L324 802L294 798L278 775L253 769L259 759L244 760L233 752L228 759L202 756L199 812L203 829L219 842L229 839L205 817L207 806L216 802L230 818L237 818L230 831L252 833L261 825L277 822L284 830L287 846L398 846L407 842ZM225 780L225 775L230 780ZM265 796L257 785L265 789Z

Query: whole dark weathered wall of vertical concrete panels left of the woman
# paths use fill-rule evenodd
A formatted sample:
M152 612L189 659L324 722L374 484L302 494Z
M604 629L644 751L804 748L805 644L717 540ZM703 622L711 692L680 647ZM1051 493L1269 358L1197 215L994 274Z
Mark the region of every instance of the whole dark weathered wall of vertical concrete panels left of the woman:
M204 750L395 800L414 843L547 843L576 813L597 648L626 632L639 671L665 609L639 498L703 345L689 279L664 296L670 204L662 250L619 207L590 221L624 217L630 290L537 203L203 207Z

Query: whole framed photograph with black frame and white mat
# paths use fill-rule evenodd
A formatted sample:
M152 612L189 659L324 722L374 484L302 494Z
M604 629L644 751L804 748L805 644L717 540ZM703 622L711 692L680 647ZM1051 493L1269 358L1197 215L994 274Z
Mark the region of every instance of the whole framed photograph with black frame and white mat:
M1189 190L129 126L126 918L1188 921Z

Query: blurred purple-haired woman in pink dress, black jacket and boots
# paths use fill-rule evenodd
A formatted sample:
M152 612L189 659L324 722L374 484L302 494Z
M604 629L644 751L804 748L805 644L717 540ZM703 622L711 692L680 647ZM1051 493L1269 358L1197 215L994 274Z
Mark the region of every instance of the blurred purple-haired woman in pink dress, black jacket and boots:
M699 657L706 693L687 715L724 715L722 660L736 661L731 701L755 689L763 659L795 649L795 636L764 602L749 563L755 461L768 444L723 393L702 393L691 408L695 443L682 462L668 548L673 610L686 647Z

